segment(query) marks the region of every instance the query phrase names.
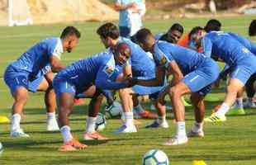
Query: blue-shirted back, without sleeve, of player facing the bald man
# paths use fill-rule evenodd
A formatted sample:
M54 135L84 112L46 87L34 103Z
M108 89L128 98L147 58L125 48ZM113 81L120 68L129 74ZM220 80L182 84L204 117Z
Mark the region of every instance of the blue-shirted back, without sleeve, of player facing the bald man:
M174 59L183 74L187 74L199 67L205 60L206 56L189 50L179 45L173 45L165 41L157 43L160 53L167 55L168 59Z

